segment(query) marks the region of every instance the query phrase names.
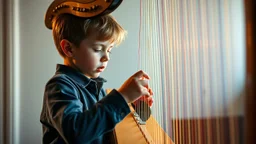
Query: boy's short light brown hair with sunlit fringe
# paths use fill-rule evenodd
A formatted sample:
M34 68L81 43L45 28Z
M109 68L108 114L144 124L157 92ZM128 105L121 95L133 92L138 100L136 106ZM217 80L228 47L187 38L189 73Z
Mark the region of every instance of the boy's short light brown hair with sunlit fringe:
M60 46L63 39L79 47L82 40L96 33L98 40L110 40L119 45L126 35L126 31L111 15L86 19L71 14L61 14L53 20L52 32L54 43L62 57L65 57Z

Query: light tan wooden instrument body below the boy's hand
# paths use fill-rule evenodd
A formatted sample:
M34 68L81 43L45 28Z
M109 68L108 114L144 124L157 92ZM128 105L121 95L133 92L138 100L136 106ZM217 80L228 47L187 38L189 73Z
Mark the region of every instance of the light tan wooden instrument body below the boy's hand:
M129 104L131 113L115 127L118 144L174 144L152 115L144 123Z

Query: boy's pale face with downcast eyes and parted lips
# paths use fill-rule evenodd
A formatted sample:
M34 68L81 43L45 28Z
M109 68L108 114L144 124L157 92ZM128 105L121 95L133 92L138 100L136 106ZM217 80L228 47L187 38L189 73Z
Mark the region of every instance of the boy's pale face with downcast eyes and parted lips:
M97 78L107 67L113 47L114 42L98 40L98 35L93 33L73 49L73 63L87 77Z

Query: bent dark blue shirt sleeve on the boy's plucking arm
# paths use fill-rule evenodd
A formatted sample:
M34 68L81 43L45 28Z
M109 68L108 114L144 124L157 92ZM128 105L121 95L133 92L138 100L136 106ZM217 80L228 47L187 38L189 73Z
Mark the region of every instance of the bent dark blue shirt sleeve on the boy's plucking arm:
M90 143L113 130L130 113L128 104L115 89L87 110L79 97L77 88L66 80L55 79L46 86L49 121L68 143Z

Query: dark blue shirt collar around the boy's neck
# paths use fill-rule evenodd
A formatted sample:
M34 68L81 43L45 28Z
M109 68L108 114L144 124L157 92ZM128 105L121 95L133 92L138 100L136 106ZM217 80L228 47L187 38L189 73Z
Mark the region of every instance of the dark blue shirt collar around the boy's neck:
M66 74L70 78L72 78L77 84L86 87L90 82L94 81L96 83L104 83L107 82L104 78L98 77L98 78L88 78L83 73L77 71L76 69L62 65L57 64L56 66L56 74Z

